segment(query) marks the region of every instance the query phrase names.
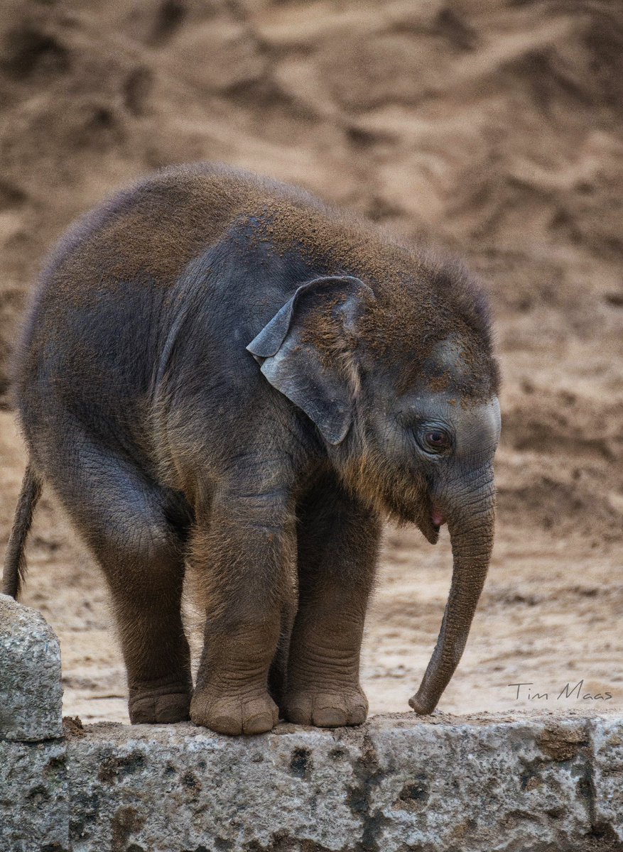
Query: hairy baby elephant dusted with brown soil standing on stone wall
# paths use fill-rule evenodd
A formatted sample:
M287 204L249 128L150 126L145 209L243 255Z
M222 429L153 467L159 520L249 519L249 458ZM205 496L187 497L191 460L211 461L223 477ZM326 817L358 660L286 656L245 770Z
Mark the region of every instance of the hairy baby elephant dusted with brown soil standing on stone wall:
M487 573L497 390L463 268L292 187L161 171L78 222L43 273L4 590L48 481L106 574L132 722L354 725L381 517L432 543L447 522L452 587L409 702L430 713ZM194 690L185 567L205 613Z

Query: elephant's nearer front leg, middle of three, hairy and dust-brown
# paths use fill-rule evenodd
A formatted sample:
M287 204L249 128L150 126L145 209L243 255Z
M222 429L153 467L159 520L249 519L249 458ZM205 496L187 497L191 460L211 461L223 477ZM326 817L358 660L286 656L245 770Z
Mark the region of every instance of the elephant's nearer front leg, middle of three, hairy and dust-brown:
M262 734L279 718L268 669L291 588L294 519L274 493L228 495L193 538L205 644L190 717L219 734Z

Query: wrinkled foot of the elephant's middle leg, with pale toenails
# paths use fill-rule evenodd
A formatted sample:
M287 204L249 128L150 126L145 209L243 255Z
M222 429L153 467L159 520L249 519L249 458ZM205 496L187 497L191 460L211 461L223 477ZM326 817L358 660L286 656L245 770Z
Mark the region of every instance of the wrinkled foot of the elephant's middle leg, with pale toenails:
M268 692L234 696L203 688L193 695L190 717L216 734L265 734L279 722L279 710Z

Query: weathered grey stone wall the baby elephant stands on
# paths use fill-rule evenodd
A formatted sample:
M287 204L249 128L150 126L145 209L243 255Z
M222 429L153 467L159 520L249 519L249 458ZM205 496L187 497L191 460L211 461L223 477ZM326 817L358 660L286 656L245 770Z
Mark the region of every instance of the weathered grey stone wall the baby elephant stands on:
M0 597L2 852L623 850L622 717L400 714L237 739L70 720L61 732L58 643L42 622ZM31 623L37 640L17 641ZM28 704L5 677L20 666L26 684L41 674Z

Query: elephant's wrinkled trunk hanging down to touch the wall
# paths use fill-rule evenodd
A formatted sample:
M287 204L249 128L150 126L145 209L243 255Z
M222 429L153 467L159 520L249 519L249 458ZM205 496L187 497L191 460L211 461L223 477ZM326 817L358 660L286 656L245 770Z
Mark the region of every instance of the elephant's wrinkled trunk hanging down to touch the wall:
M448 530L453 549L450 594L435 651L418 692L409 699L413 710L423 715L435 710L441 693L459 665L487 577L495 518L493 471L487 469L477 479L476 487L472 485L467 495L471 498L469 509L465 509L464 491L460 495L461 509L448 506ZM456 493L452 502L459 503Z

